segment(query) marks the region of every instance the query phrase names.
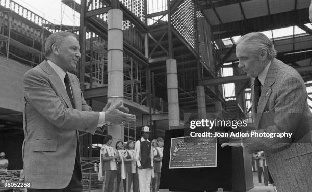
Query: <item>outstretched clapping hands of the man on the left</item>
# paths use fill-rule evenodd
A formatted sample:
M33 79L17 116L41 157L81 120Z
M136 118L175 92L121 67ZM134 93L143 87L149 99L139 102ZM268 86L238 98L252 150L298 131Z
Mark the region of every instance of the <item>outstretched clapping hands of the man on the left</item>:
M128 123L132 121L136 121L136 115L128 114L129 109L127 107L123 107L122 101L110 106L111 103L108 102L106 106L103 108L105 111L105 121L113 124L119 124L121 122Z

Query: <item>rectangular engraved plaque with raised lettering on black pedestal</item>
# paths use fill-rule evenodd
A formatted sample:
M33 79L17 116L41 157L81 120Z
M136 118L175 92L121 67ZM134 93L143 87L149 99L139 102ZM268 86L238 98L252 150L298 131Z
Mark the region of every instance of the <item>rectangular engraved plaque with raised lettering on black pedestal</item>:
M217 138L171 138L169 169L217 167Z

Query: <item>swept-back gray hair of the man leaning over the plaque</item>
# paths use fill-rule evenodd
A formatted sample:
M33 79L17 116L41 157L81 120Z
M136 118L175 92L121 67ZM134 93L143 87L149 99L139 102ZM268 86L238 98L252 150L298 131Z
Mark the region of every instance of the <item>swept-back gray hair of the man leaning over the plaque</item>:
M268 53L268 59L273 59L277 55L273 42L265 34L260 32L251 32L245 34L241 38L239 38L239 40L236 41L235 44L252 45L255 51L265 49Z

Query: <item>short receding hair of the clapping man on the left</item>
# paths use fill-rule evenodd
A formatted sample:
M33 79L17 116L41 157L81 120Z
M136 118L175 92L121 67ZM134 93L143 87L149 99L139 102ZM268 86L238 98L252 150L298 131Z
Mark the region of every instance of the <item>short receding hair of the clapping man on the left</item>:
M50 54L52 53L52 45L53 44L57 44L60 45L62 41L64 41L65 37L68 36L73 36L74 38L77 38L76 34L70 33L70 32L65 32L65 31L61 31L61 32L56 32L51 34L45 41L45 45L44 45L44 56L45 58L47 58L48 56L50 56Z

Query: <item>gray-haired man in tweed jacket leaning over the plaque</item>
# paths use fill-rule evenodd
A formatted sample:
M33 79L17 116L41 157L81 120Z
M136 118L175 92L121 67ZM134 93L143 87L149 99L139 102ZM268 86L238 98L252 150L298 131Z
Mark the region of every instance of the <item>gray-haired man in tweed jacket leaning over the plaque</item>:
M251 77L255 131L292 133L291 138L244 139L243 147L250 154L264 151L278 192L312 191L312 113L302 77L275 58L274 45L264 34L246 34L236 44L239 67Z

